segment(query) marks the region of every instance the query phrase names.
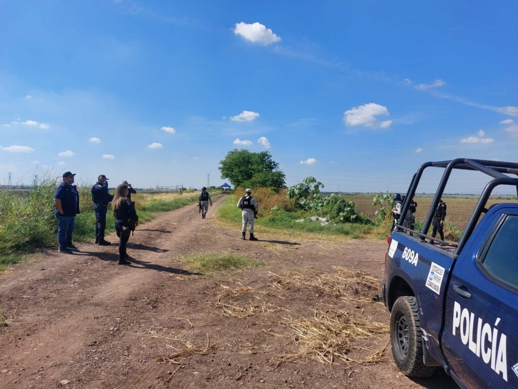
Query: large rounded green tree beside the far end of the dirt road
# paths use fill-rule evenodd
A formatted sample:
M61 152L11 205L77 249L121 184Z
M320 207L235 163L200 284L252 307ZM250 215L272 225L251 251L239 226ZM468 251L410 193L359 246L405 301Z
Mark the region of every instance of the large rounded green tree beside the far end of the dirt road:
M272 160L268 151L250 152L245 149L234 149L220 161L221 178L228 178L234 187L251 188L285 187L285 175L278 170L279 164Z

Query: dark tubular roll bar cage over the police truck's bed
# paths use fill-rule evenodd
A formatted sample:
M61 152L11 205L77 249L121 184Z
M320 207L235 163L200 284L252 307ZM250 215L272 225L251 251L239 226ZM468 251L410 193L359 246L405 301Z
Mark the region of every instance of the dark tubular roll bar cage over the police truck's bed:
M426 219L423 224L423 229L419 233L418 231L412 231L408 228L403 227L398 224L399 220L405 220L405 216L410 207L410 201L415 196L415 190L418 187L419 181L423 172L427 168L444 168L444 173L442 174L441 180L439 182L439 186L437 191L435 192L435 196L433 201L431 202L430 209L428 210L428 214L426 215ZM437 205L442 198L442 194L446 184L448 183L448 179L450 178L450 174L453 169L460 170L472 170L479 171L484 173L493 179L490 180L482 190L480 194L479 200L477 201L477 205L474 207L473 212L469 218L468 224L464 229L464 232L459 240L458 244L452 244L444 241L437 240L439 242L445 243L449 246L456 246L454 257L456 258L458 254L462 251L462 248L466 244L466 241L470 237L473 232L474 227L477 225L477 221L480 218L482 212L486 212L485 205L487 200L491 196L491 193L495 187L498 185L511 185L516 187L516 199L518 200L518 178L513 178L508 176L507 174L515 174L518 176L518 163L516 162L502 162L502 161L488 161L483 159L468 159L468 158L456 158L448 161L438 161L438 162L425 162L421 166L419 166L418 171L413 175L412 181L410 182L410 186L407 191L407 196L405 197L405 201L401 207L401 213L396 223L395 229L398 231L412 231L419 235L420 239L424 241L424 237L428 237L428 229L430 228L431 222L434 218L435 210L437 209ZM436 240L436 239L434 239Z

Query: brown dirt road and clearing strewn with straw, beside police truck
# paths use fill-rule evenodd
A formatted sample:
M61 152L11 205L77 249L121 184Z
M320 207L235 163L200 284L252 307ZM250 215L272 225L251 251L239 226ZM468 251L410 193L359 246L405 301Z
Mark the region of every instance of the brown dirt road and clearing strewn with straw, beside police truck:
M0 388L456 388L402 376L379 291L384 242L240 240L197 206L139 226L128 244L79 244L0 275ZM107 237L116 242L114 235ZM182 255L265 266L200 275Z

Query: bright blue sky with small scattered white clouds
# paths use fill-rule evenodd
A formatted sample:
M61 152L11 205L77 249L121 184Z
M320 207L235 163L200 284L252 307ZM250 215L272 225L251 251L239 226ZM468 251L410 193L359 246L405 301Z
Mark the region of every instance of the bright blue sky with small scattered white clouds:
M200 188L247 148L289 186L406 191L425 161L517 161L517 13L509 0L0 0L0 183L38 169ZM480 189L457 178L450 192Z

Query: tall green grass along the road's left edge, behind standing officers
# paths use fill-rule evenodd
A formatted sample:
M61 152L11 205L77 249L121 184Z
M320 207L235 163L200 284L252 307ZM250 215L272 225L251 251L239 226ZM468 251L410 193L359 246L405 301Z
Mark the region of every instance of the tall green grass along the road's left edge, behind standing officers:
M0 271L25 260L38 249L57 245L57 220L54 216L54 193L61 180L35 178L27 192L0 190ZM95 239L95 214L91 189L78 188L81 213L75 218L73 239ZM137 193L133 195L140 222L151 220L157 212L179 209L197 201L198 193L183 196L175 193ZM113 212L106 217L106 233L115 229Z

